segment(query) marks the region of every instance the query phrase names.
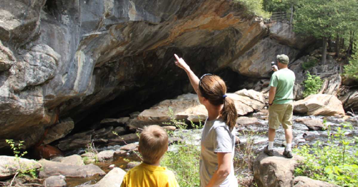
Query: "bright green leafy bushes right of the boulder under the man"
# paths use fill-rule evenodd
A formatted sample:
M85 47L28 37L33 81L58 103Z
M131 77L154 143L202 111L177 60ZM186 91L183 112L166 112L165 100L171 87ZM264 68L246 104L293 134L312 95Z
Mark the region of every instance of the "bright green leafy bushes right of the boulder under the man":
M311 147L304 145L293 150L304 157L303 164L295 169L295 176L307 176L339 186L358 186L358 137L348 139L345 134L352 126L349 123L342 126L336 133L331 133L328 126L328 145L323 146L323 142L317 141Z

